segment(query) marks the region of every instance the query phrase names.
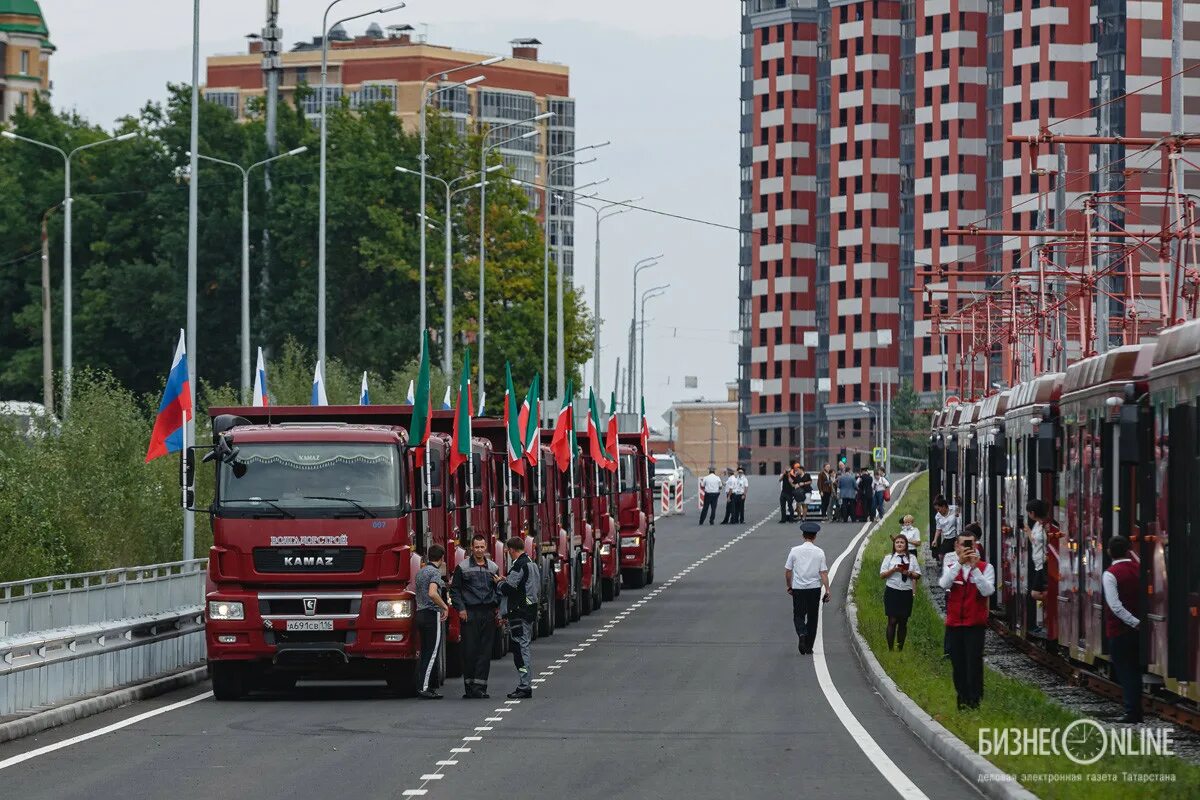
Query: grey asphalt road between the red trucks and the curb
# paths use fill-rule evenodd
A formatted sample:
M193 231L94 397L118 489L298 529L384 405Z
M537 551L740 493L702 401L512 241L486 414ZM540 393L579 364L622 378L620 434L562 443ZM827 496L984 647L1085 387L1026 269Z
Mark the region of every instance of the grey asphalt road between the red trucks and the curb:
M535 642L532 700L504 699L509 660L493 662L491 700L451 681L436 703L370 684L216 703L202 685L0 745L0 787L23 800L977 796L860 673L841 613L853 552L823 652L797 652L782 573L799 533L768 518L772 479L755 483L746 525L700 528L692 499L658 524L652 587ZM859 530L824 527L830 566Z

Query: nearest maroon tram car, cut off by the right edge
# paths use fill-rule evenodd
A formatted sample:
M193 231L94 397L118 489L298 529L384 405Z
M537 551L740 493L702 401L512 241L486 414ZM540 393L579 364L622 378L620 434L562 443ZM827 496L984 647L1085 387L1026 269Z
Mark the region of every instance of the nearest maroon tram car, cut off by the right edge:
M1139 507L1146 581L1142 657L1164 687L1200 702L1200 320L1163 331L1150 372L1157 503Z

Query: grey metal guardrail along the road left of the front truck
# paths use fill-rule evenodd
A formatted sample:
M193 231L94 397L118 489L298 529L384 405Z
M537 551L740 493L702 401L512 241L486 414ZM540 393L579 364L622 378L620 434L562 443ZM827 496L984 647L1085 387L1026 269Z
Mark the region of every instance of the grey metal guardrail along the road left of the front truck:
M0 716L204 661L206 559L0 583Z

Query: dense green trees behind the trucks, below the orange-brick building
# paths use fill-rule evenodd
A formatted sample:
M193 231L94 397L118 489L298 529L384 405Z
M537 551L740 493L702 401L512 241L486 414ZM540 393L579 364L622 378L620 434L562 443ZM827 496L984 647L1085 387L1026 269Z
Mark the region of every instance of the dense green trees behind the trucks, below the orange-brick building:
M302 100L299 92L296 102ZM148 103L106 132L71 114L40 106L17 113L13 130L65 150L127 131L134 139L106 144L72 160L74 365L109 372L140 396L161 387L166 360L185 319L187 276L187 149L190 91L172 86L164 104ZM308 152L270 166L251 180L251 343L298 374L312 373L317 339L318 133L302 110L281 104L278 149ZM428 172L458 176L478 169L480 136L460 137L434 114ZM328 326L331 399L356 398L361 371L379 378L379 397L419 356L419 181L395 172L418 167L416 137L389 107L329 114ZM200 108L200 151L250 164L266 157L262 120L238 122L224 108ZM199 172L198 330L196 356L209 386L239 381L241 293L241 176L202 162ZM461 184L466 185L466 182ZM427 185L430 217L440 224L444 196ZM44 148L0 140L0 398L41 396L40 224L62 200L62 160ZM454 219L455 365L474 349L479 301L479 194L457 196ZM526 384L541 368L542 235L524 192L503 173L487 194L487 390L503 393L503 367ZM55 363L61 363L62 215L49 233ZM269 243L268 243L269 242ZM434 363L443 330L443 235L427 236L426 289ZM551 296L553 297L553 270ZM592 323L582 300L566 293L565 353L578 377L590 351ZM553 325L551 326L551 347ZM299 344L284 347L288 339ZM476 355L478 354L473 354ZM296 359L307 359L300 365ZM334 368L332 360L344 366ZM478 357L473 357L478 361ZM301 371L300 367L305 368ZM456 367L457 368L457 367ZM281 392L283 375L278 375ZM407 380L400 387L400 397ZM494 393L493 393L494 392ZM374 390L372 390L374 396ZM307 393L296 399L306 402Z

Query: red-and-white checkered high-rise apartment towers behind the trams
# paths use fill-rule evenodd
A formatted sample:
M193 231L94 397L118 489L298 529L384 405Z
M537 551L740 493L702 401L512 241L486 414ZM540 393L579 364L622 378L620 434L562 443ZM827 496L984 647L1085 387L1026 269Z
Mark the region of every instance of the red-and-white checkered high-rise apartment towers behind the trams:
M1034 275L1039 242L946 230L1079 228L1090 192L1162 188L1158 149L1068 144L1060 162L1057 148L1043 145L1033 158L1006 137L1171 131L1170 14L1171 0L743 0L745 462L775 471L802 446L809 461L868 450L880 401L901 381L932 403L960 377L982 389L984 374L1022 379L1036 369L1012 341L970 359L955 336L936 335L936 320L996 289L1002 273ZM1183 19L1187 68L1200 61L1200 1L1184 2ZM815 58L788 65L785 84L814 86L815 97L778 96L774 42L796 50L815 43ZM1183 131L1200 130L1200 77L1190 76ZM791 134L816 156L781 166L775 109L786 102L811 120ZM790 187L815 191L779 196L769 179L781 169ZM1200 188L1194 167L1181 164L1181 174L1187 190ZM1104 209L1112 227L1162 225L1150 200L1121 200ZM780 209L808 217L784 229ZM780 264L776 245L797 242L812 258ZM1099 347L1133 336L1130 312L1158 315L1162 261L1142 248L1130 266L1135 285L1118 276L1100 282L1111 297L1099 303ZM780 281L781 269L808 282ZM1025 361L1006 373L1000 365L1013 353ZM1078 345L1063 353L1078 355Z

